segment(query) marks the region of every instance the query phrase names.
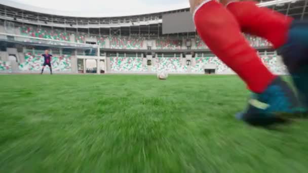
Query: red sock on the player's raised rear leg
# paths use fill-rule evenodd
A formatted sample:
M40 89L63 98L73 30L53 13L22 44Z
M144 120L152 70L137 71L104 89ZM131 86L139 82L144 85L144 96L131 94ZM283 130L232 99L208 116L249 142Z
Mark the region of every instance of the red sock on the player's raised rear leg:
M287 33L293 18L274 10L257 7L255 2L232 2L227 9L235 16L242 31L263 37L279 48L287 41Z

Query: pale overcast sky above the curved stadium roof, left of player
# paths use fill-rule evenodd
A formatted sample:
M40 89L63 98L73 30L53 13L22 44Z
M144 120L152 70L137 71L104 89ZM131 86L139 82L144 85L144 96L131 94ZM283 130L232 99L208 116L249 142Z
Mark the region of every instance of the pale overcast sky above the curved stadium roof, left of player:
M0 2L5 5L16 3L25 10L78 17L128 16L189 7L188 0L0 0Z

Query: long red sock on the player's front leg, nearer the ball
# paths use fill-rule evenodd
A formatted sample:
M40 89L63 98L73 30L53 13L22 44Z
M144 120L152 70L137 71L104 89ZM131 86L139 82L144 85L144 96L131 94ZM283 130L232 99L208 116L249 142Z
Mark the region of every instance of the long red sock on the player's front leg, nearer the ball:
M241 33L234 16L226 8L210 1L194 14L200 37L210 50L232 68L255 93L262 93L275 78L261 62Z

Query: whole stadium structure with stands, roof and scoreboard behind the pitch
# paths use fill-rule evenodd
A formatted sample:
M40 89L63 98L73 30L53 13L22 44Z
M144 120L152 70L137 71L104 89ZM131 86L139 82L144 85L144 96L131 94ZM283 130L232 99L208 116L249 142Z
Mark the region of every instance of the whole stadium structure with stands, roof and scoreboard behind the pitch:
M260 2L259 6L296 19L303 20L308 15L307 1L267 1ZM180 15L183 18L176 18ZM86 18L44 14L18 4L3 3L0 5L0 73L38 73L43 64L41 54L50 49L55 73L232 74L210 52L191 23L188 8ZM273 72L286 73L266 40L246 36Z

